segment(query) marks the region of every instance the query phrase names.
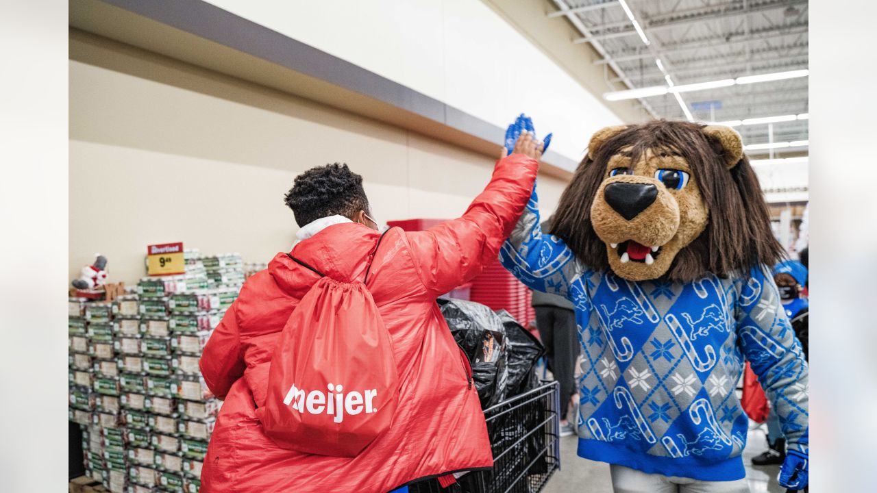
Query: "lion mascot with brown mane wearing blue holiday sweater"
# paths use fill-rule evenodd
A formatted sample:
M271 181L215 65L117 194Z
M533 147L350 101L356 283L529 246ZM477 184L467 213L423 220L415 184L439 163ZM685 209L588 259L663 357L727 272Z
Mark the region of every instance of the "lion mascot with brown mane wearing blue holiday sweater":
M616 491L749 491L745 361L788 442L780 484L808 483L808 377L771 269L783 254L737 132L657 120L596 132L540 229L535 189L500 254L575 305L578 454Z

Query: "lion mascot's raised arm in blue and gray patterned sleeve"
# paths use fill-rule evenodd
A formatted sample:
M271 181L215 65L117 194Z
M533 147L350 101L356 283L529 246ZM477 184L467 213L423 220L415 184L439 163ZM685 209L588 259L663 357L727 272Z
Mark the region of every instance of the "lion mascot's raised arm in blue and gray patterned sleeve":
M582 269L562 239L542 233L535 184L524 214L500 249L499 260L528 288L573 297L570 286Z

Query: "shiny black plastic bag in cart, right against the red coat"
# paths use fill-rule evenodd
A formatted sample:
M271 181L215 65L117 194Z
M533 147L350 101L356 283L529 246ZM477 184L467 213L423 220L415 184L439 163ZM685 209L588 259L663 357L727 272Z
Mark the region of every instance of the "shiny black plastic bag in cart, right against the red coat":
M503 320L483 304L439 298L442 315L453 339L466 353L481 408L506 397L507 338Z

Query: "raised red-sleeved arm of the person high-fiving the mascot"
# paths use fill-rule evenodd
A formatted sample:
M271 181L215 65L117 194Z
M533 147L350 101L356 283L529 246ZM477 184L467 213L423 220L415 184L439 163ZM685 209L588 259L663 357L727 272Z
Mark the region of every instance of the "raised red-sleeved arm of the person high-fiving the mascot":
M462 217L406 234L426 289L437 296L446 293L496 260L503 239L527 203L541 154L541 145L532 134L522 134L514 154L496 161L487 188Z

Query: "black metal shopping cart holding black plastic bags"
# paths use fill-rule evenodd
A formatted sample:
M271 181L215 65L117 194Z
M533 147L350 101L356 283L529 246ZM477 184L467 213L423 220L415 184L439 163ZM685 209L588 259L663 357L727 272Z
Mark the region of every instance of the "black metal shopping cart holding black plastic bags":
M443 489L436 480L410 493L538 493L560 468L560 384L546 382L484 410L494 467Z

